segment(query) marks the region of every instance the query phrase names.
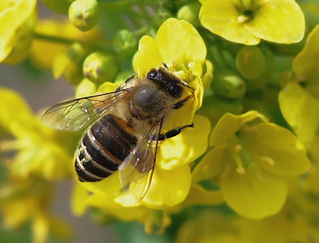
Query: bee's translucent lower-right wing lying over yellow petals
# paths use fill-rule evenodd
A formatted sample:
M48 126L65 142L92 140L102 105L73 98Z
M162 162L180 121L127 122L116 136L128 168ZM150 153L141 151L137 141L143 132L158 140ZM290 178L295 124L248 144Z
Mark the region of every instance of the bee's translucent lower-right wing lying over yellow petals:
M123 190L130 190L137 199L146 195L151 184L161 125L161 122L153 125L119 166Z

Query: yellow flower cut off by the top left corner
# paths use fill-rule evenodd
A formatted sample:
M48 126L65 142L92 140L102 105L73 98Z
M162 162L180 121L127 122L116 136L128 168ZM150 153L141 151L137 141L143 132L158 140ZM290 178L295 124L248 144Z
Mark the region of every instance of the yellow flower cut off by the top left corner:
M0 62L15 64L27 57L31 45L36 0L0 2Z

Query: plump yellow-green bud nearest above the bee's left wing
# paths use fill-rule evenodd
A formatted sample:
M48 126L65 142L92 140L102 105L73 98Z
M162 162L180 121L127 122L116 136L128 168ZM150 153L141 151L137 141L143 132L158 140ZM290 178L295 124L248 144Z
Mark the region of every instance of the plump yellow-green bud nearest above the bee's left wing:
M84 76L90 81L101 84L105 81L113 81L120 70L120 65L112 55L94 52L84 61Z

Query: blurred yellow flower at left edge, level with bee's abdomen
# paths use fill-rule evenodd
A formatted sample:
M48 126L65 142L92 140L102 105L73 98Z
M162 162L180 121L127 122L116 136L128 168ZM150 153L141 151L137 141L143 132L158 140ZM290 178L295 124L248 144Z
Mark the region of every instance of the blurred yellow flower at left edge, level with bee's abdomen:
M16 151L8 164L10 173L23 178L31 174L47 179L71 176L79 136L44 127L12 90L0 88L0 96L0 127L14 137L0 141L0 150Z

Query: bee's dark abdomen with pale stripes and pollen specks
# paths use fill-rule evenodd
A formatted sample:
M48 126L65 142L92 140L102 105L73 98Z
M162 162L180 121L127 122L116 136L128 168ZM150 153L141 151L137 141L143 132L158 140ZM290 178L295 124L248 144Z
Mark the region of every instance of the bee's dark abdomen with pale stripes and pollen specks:
M108 177L136 146L137 138L127 132L118 119L108 114L85 133L75 159L80 181L99 181Z

